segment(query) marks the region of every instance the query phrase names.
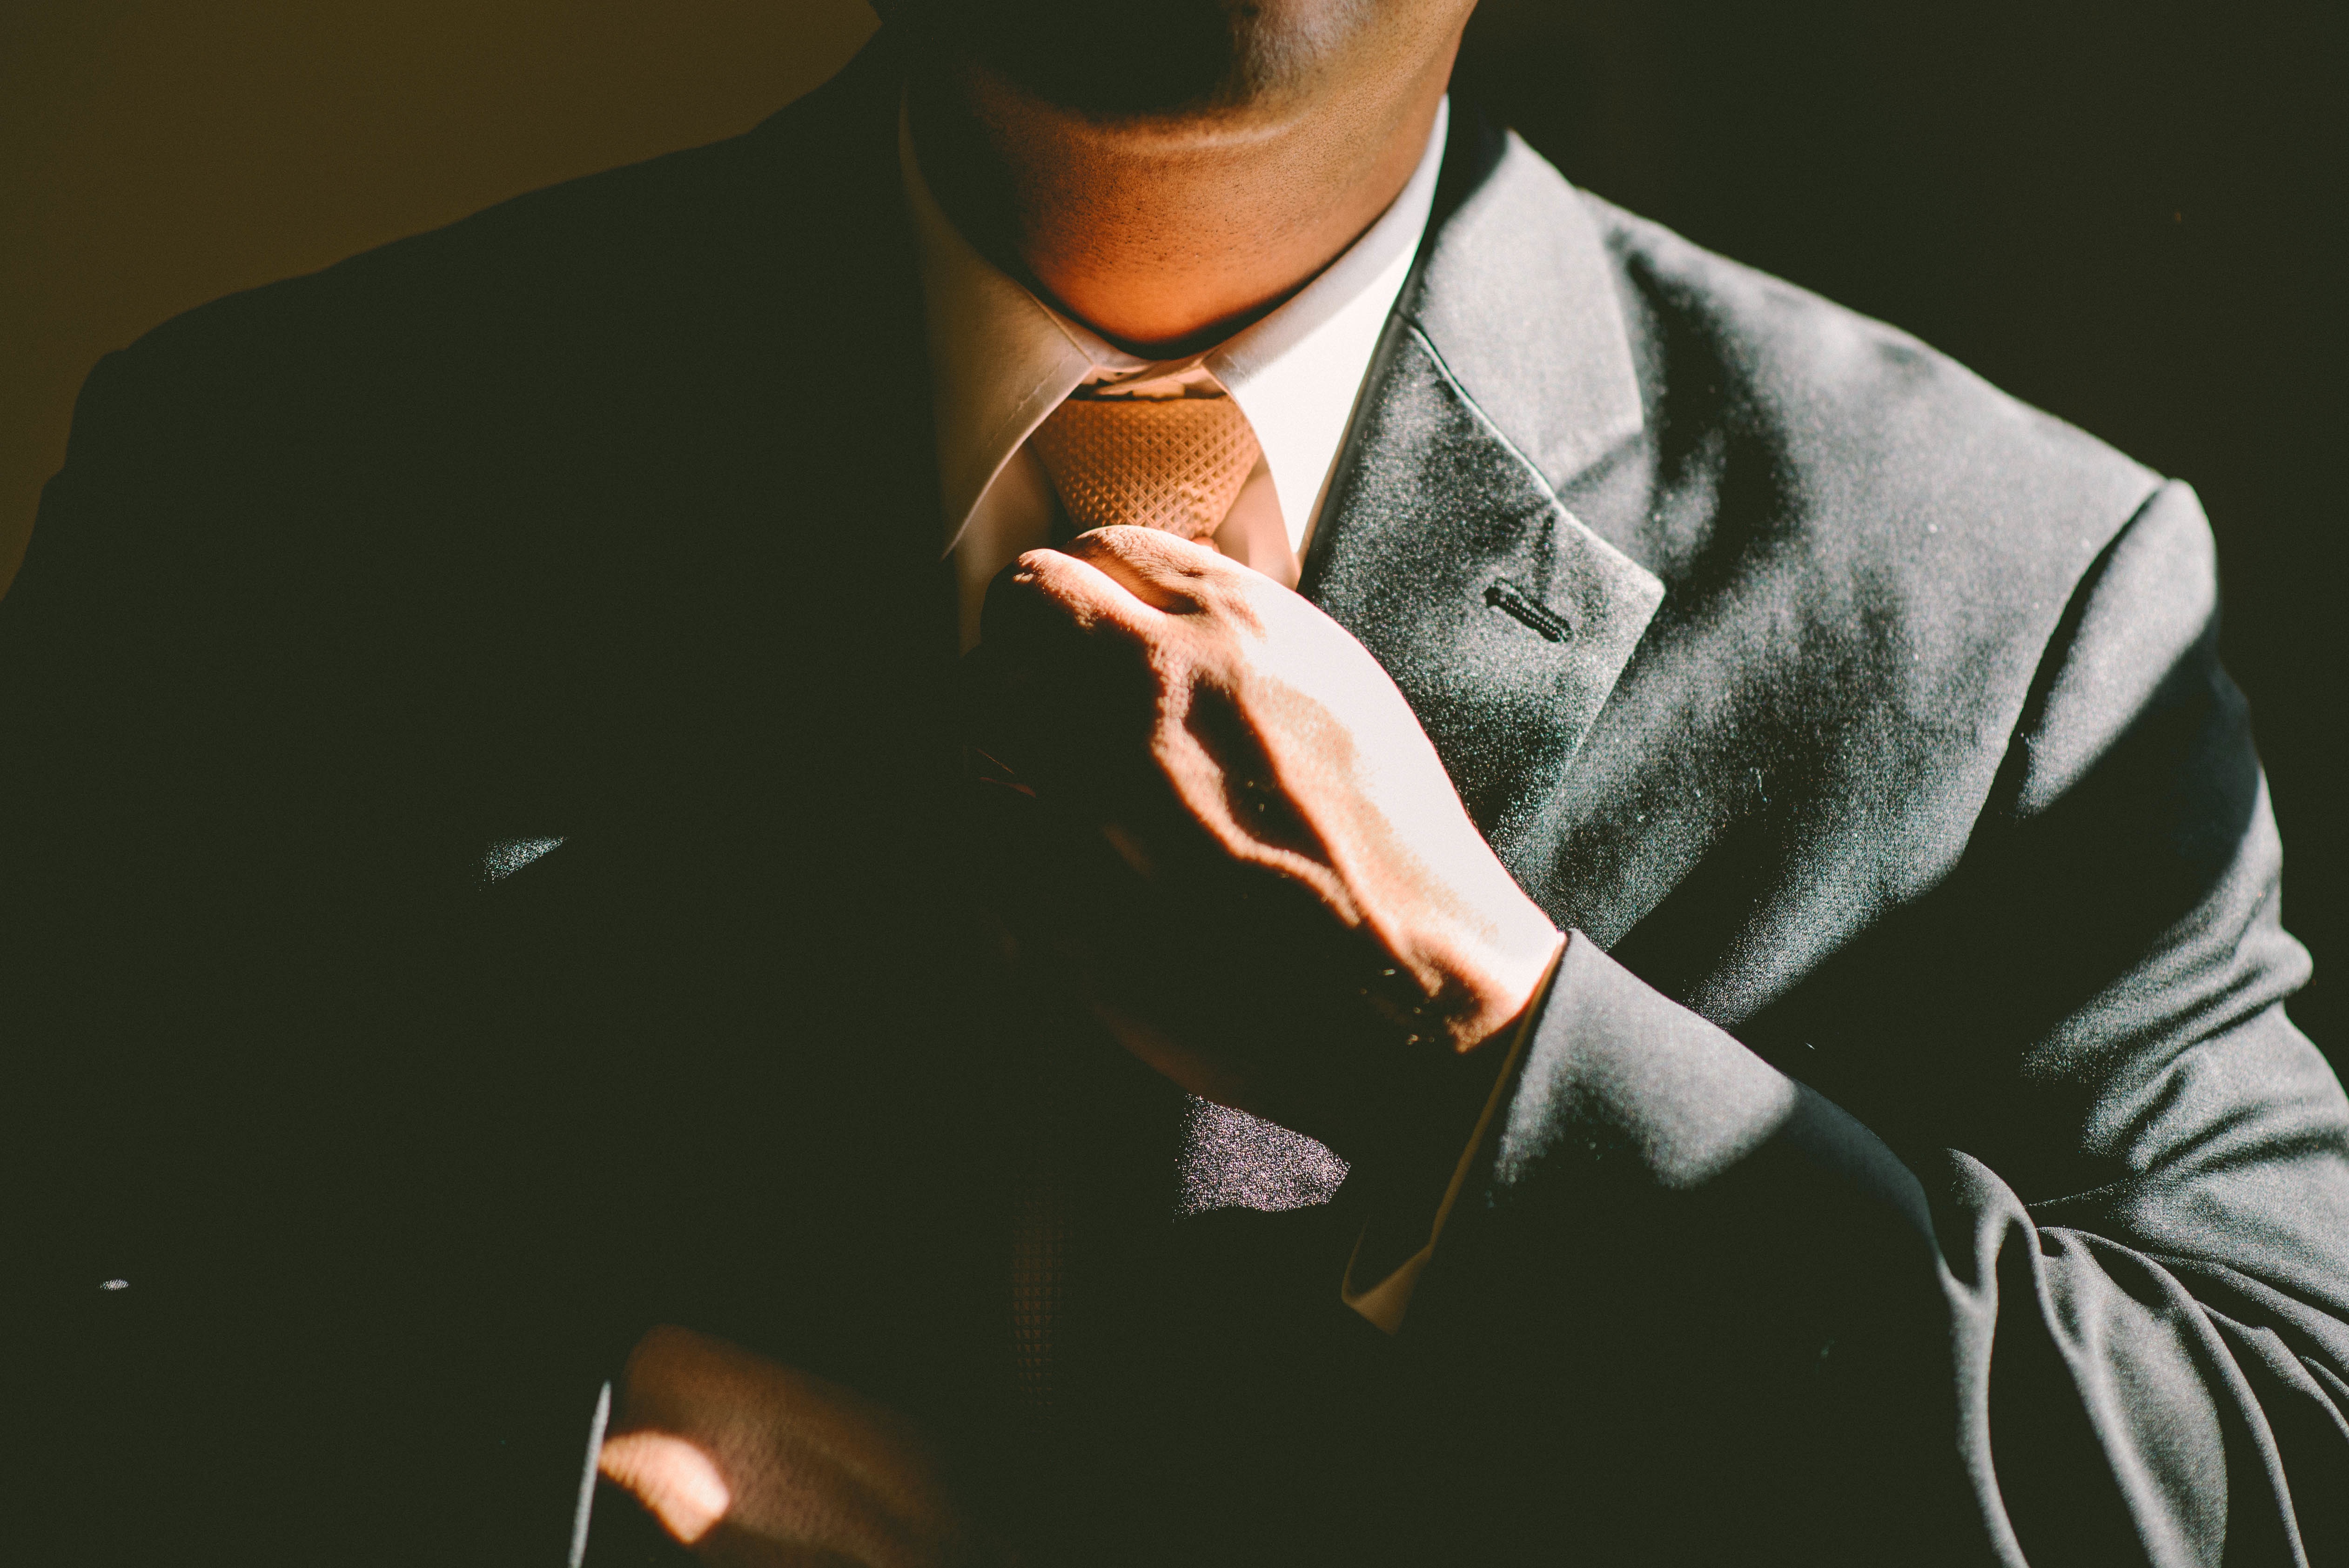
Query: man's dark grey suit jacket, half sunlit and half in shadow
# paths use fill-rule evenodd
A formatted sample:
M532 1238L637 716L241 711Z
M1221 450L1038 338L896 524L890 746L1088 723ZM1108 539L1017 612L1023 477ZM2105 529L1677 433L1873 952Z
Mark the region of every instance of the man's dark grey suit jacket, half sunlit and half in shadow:
M2349 1556L2349 1115L2192 491L1459 106L1304 592L1576 937L1388 1340L1360 1181L1167 1218L1182 1096L975 955L895 113L883 40L92 373L0 603L40 1561L554 1561L662 1319L1036 1561Z

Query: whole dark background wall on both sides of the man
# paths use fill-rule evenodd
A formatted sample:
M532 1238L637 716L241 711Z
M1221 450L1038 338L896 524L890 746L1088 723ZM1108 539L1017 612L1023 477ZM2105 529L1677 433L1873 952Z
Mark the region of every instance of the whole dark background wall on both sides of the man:
M1569 176L2192 479L2349 1061L2344 14L2326 0L1485 0L1463 80ZM0 9L0 580L108 347L230 289L738 131L857 0Z

